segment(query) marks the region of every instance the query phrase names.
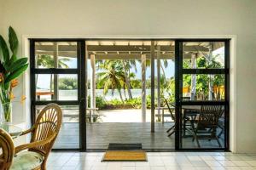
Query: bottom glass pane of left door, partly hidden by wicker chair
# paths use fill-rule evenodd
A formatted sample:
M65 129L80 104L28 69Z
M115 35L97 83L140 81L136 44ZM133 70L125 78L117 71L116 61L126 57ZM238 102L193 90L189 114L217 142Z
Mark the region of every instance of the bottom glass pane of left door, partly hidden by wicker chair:
M44 105L36 106L36 117ZM61 131L55 141L55 149L79 149L79 105L61 105Z

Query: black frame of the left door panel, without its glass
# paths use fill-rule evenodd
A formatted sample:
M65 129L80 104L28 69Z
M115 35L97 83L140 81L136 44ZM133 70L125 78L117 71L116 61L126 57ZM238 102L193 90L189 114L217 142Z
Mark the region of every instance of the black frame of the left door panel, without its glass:
M56 103L57 105L78 105L79 106L79 148L77 149L54 149L54 150L86 150L86 122L85 122L85 111L86 111L86 83L85 83L85 41L84 39L77 38L31 38L30 41L30 81L31 81L31 122L32 125L36 119L36 106L37 105L48 105L49 103ZM59 69L49 68L40 69L36 68L35 65L35 43L36 42L77 42L77 68L76 69ZM36 74L75 74L78 75L78 99L77 100L49 100L39 101L36 99ZM85 77L85 78L84 78ZM83 121L84 120L84 121Z

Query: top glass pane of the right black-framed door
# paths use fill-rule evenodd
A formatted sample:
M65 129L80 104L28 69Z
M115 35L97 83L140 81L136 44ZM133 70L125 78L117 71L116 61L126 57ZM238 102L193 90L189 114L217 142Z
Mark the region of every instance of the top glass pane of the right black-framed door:
M224 68L224 42L183 42L183 68Z

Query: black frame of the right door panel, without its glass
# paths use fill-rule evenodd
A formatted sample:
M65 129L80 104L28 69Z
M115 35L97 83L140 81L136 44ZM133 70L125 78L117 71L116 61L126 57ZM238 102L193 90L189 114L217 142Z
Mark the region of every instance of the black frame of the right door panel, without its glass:
M224 69L183 69L183 42L224 42ZM183 97L183 74L224 74L224 101L185 101ZM230 150L230 39L177 39L175 41L175 150ZM182 105L224 105L224 147L182 147Z

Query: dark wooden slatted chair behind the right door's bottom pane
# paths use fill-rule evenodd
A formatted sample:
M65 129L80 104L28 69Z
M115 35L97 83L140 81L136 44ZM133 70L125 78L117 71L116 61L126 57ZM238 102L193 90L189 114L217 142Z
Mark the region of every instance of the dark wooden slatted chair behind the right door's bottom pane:
M201 106L199 119L195 122L196 127L194 123L192 124L194 131L193 141L196 140L198 147L201 147L199 139L208 139L209 141L216 139L218 146L221 147L220 141L218 140L217 127L218 120L223 113L224 110L221 105Z

